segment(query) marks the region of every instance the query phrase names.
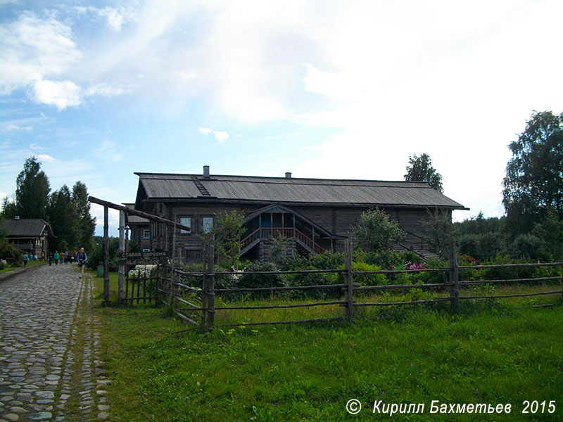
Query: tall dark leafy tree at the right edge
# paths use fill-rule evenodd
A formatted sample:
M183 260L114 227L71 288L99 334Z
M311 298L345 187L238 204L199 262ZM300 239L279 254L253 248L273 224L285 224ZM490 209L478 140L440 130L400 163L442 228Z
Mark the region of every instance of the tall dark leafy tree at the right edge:
M563 219L563 113L534 110L509 148L502 203L512 233L529 232L550 208Z

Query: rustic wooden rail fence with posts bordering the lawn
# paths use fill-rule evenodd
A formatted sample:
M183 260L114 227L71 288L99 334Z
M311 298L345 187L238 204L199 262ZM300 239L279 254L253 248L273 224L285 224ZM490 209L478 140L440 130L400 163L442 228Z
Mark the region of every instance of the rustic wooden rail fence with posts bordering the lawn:
M483 299L499 299L499 298L516 298L538 295L561 294L563 297L563 262L551 263L533 263L533 264L498 264L498 265L472 265L469 267L457 265L457 252L455 251L455 241L452 241L450 250L450 266L437 269L406 269L402 271L380 270L380 271L353 271L352 269L352 246L348 239L346 245L346 263L344 269L319 269L319 270L301 270L301 271L248 271L244 274L323 274L337 273L342 274L344 283L328 284L317 286L293 286L293 287L262 287L262 288L215 288L215 277L217 275L224 276L224 273L217 273L214 269L214 245L213 236L209 236L208 245L205 248L206 260L201 273L189 273L179 269L170 269L169 276L163 278L160 293L164 303L170 305L175 313L184 321L201 326L203 329L211 330L215 326L215 312L222 310L241 310L248 311L250 309L290 309L298 307L321 307L339 305L344 308L342 316L334 318L320 319L298 319L291 321L253 321L239 324L222 324L222 326L240 326L240 325L267 325L267 324L297 324L314 321L330 321L346 319L353 321L354 311L357 307L388 307L403 305L419 305L436 302L450 302L451 309L457 312L460 309L460 301L462 300L483 300ZM507 268L523 268L523 267L561 267L561 276L550 276L535 279L491 279L479 281L459 281L460 271L476 270L476 269L507 269ZM394 284L381 286L360 286L360 283L354 282L354 277L367 276L370 274L419 274L423 272L445 273L448 275L448 281L445 283L419 283L419 284ZM201 288L189 286L183 283L182 279L189 277L201 278ZM460 288L467 286L483 286L495 285L498 283L537 283L538 281L560 281L559 289L550 291L541 291L533 293L519 293L510 295L460 295ZM426 300L410 300L403 302L356 302L354 295L369 290L393 290L393 289L446 289L449 295L443 298L432 298ZM293 303L288 302L284 305L237 305L237 306L216 306L215 295L225 293L274 293L291 290L340 290L343 293L343 300L331 300L321 302ZM194 318L194 314L200 314L201 317Z

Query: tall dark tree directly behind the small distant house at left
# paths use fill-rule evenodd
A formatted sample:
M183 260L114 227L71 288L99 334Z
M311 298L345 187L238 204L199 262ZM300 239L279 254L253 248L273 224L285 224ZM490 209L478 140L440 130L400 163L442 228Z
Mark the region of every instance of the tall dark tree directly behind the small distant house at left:
M47 217L49 203L49 179L41 170L41 162L35 157L25 160L23 170L15 179L15 203L21 218Z

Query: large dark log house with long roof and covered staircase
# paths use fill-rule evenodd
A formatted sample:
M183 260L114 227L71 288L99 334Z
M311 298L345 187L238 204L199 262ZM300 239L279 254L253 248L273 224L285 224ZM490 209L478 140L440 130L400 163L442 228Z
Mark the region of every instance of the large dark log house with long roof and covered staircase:
M370 207L384 209L407 233L399 248L424 254L420 234L429 210L467 210L420 181L301 179L203 174L136 173L135 209L190 226L175 238L186 262L201 257L201 234L212 231L217 215L237 210L246 216L241 256L267 260L272 239L282 238L291 253L342 251L350 226ZM450 214L451 215L451 214ZM171 234L158 226L144 229L151 249L170 250ZM146 240L146 239L145 239ZM176 251L177 252L177 251Z

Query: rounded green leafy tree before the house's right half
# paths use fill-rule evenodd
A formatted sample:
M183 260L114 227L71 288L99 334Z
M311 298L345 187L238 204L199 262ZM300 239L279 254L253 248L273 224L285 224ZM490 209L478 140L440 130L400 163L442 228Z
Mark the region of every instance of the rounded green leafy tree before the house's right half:
M398 222L391 221L388 214L377 207L362 212L358 223L352 227L352 233L358 246L366 252L384 250L391 242L405 237Z

